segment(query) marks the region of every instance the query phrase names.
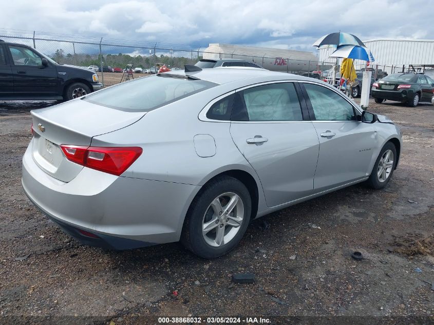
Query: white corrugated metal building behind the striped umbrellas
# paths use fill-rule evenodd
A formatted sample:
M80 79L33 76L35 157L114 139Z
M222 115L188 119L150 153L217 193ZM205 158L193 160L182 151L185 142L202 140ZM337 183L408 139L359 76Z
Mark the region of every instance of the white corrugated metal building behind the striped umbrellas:
M374 65L408 68L434 67L434 40L368 40L363 41L375 58ZM330 61L329 55L332 47L319 49L319 61ZM364 64L363 61L355 62L356 65Z

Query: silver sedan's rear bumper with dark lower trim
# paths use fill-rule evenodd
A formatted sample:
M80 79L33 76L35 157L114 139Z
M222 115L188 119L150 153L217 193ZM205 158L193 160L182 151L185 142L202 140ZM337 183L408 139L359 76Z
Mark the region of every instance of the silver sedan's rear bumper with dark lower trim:
M200 186L117 177L86 167L64 183L36 165L32 145L23 157L24 192L72 237L117 250L179 240Z

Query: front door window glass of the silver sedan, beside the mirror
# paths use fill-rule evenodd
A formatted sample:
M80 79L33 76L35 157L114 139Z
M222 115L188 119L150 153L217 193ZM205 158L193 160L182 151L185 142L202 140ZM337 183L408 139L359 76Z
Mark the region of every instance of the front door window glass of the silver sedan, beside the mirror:
M317 121L355 121L353 106L334 91L305 83Z

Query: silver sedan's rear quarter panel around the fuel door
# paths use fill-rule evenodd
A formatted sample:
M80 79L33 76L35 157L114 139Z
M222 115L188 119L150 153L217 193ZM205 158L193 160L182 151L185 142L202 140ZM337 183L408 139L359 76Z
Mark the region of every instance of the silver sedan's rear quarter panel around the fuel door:
M219 87L216 87L219 88ZM122 176L203 185L224 170L242 169L254 173L230 136L230 123L203 122L201 109L225 92L209 89L155 109L137 123L92 139L92 146L141 146L143 154ZM216 154L199 157L194 137L214 138Z

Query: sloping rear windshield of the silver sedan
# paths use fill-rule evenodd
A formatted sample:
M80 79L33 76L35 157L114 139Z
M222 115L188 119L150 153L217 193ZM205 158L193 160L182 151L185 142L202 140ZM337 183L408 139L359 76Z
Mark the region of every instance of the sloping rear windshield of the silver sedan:
M216 84L179 77L152 75L92 93L84 101L124 111L151 111Z

